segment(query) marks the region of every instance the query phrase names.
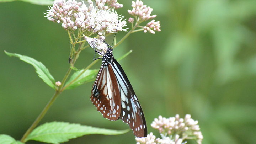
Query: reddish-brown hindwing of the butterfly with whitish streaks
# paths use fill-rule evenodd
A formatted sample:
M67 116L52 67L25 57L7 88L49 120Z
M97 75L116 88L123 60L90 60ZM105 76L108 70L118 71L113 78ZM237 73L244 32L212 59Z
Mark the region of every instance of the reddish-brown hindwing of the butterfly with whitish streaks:
M101 66L92 86L91 101L103 117L110 121L119 118L121 112L119 84L111 66Z

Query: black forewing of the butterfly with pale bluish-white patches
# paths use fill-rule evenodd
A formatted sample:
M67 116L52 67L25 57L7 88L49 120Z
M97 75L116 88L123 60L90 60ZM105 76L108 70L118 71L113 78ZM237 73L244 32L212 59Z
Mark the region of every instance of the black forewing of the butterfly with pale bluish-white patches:
M119 118L129 125L136 137L146 137L146 120L132 85L116 59L113 59L113 63L110 63L110 65L116 75L121 97L121 114Z

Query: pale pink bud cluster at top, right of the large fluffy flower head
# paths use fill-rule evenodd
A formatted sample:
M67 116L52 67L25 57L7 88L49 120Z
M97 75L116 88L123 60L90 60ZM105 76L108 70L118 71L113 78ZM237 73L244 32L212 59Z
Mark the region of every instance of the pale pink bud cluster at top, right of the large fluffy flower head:
M143 21L153 19L156 15L150 16L151 12L153 11L152 8L147 5L143 5L141 0L137 0L136 2L132 1L132 10L128 10L128 13L133 16L139 16L139 18Z

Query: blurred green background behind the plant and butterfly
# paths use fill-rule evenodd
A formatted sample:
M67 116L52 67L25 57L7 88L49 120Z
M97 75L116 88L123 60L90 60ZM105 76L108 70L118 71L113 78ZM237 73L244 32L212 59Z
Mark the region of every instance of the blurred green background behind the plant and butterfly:
M130 0L118 14L130 17ZM199 121L204 144L254 143L256 134L256 1L144 0L158 15L161 32L130 35L117 49L148 124L154 118L191 114ZM20 139L53 95L34 68L7 52L41 61L56 81L69 64L68 34L44 18L47 6L21 1L0 3L0 134ZM143 25L146 25L144 23ZM128 24L129 26L129 24ZM117 34L117 40L125 32ZM108 39L111 43L112 39ZM85 49L76 63L92 62ZM99 68L98 62L93 68ZM90 101L93 82L64 91L42 123L64 121L109 129L127 129L122 121L108 121ZM123 135L86 135L67 144L132 144ZM189 141L189 143L194 143ZM28 142L28 144L39 144Z

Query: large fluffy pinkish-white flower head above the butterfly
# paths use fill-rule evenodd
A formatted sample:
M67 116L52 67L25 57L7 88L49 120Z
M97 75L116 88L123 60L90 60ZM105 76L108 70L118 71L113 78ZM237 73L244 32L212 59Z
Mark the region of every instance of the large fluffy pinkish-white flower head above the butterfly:
M108 7L112 9L100 9L99 6L94 6L91 0L88 0L88 7L82 2L76 0L55 0L50 10L46 13L48 20L62 23L62 27L68 31L75 31L80 28L81 31L91 31L90 27L97 32L106 31L114 33L116 31L126 31L123 29L126 26L124 16L118 15L114 8L122 7L122 4L116 0L98 0L101 4L108 2ZM98 3L98 4L100 4ZM118 25L118 27L117 27Z

